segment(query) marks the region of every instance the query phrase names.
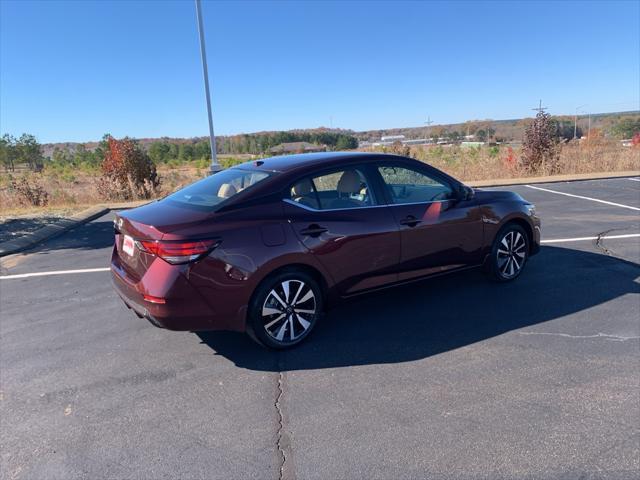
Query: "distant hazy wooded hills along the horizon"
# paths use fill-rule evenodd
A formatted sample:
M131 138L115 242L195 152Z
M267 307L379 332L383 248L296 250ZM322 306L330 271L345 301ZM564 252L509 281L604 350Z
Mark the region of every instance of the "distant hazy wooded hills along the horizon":
M640 111L627 111L627 112L609 112L609 113L594 113L591 114L591 128L602 129L607 132L613 125L620 122L624 117L638 117ZM573 115L556 115L555 119L573 125ZM477 130L486 130L491 128L495 130L494 137L504 139L505 141L519 141L522 140L524 134L524 128L532 117L518 118L509 120L469 120L464 123L452 123L452 124L432 124L430 126L418 126L418 127L397 127L387 128L379 130L366 130L366 131L353 131L347 129L337 128L315 128L315 129L296 129L290 130L290 133L339 133L350 135L358 139L358 141L374 142L380 140L382 136L392 135L404 135L406 139L420 139L427 136L444 135L448 133L458 132L461 136L472 134ZM578 118L578 126L586 132L588 127L588 116L581 114ZM277 135L280 132L275 131L263 131L254 133L242 133L238 135L225 135L217 136L217 142L224 146L226 144L234 143L234 140L247 137L259 137L264 135ZM166 142L170 144L196 144L198 142L207 141L209 137L191 137L191 138L171 138L171 137L159 137L159 138L138 138L138 142L145 148L148 148L154 142ZM50 157L53 154L54 149L64 149L67 151L75 151L79 145L83 145L87 150L94 150L98 146L98 141L86 142L86 143L74 143L74 142L59 142L59 143L46 143L43 144L43 154L45 157Z

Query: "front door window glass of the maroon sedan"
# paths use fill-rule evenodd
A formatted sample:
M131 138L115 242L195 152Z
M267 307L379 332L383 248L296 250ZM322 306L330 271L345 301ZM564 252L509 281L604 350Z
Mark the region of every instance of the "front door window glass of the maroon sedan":
M405 167L378 167L394 204L426 203L452 198L452 190L435 178Z

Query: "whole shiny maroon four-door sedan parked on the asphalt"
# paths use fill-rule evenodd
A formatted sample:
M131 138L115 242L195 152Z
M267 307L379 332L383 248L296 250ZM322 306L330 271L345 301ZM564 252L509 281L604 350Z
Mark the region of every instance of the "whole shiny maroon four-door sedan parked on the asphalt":
M479 266L510 281L540 246L519 195L369 153L245 163L114 222L113 282L138 316L272 348L303 340L341 298Z

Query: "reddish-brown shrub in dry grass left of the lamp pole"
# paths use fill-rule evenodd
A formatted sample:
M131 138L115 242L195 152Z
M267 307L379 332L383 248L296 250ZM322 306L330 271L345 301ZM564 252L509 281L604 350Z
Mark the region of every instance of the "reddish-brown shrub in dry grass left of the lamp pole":
M98 191L107 200L151 198L160 180L149 155L129 138L108 137Z

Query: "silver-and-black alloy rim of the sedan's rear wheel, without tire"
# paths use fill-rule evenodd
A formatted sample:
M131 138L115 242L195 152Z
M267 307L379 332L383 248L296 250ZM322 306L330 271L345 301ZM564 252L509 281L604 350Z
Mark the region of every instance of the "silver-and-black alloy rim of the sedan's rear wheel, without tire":
M279 343L294 342L304 335L316 315L313 289L302 280L285 280L274 286L262 306L266 333Z

